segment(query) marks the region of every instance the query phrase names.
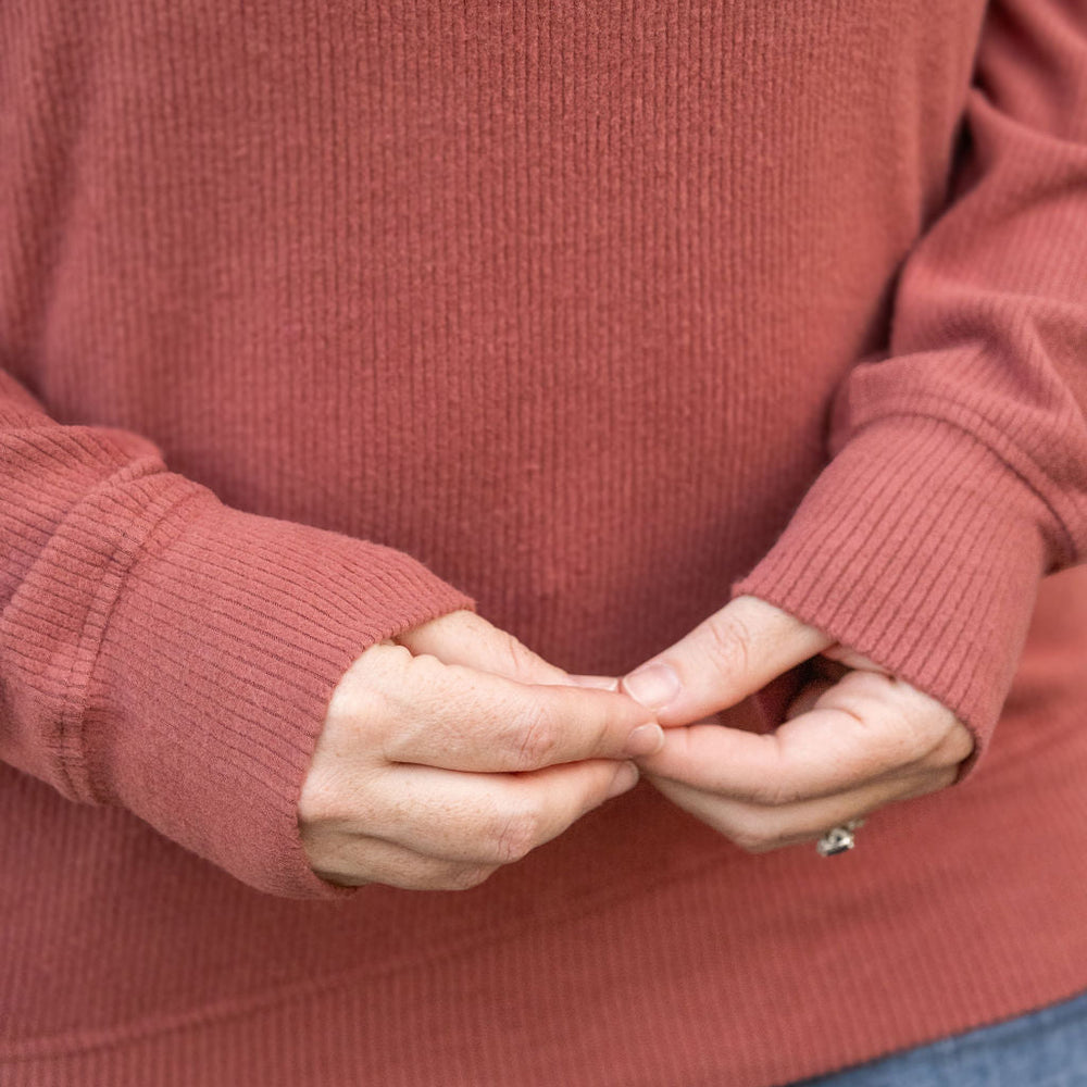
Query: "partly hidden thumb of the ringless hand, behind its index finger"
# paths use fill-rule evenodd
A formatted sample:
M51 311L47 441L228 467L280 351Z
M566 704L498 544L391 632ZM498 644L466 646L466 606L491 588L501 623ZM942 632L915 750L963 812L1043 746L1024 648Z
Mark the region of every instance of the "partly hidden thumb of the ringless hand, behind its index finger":
M461 664L525 684L567 683L562 669L537 657L512 634L475 612L449 612L397 636L415 657L436 657L442 664Z

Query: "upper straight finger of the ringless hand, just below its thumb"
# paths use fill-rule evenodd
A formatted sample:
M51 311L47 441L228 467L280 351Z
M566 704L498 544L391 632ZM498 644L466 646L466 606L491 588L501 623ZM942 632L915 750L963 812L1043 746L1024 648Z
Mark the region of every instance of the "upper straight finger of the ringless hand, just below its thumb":
M499 773L629 759L663 742L652 714L623 695L520 684L429 657L375 661L386 666L370 712L382 715L389 762Z

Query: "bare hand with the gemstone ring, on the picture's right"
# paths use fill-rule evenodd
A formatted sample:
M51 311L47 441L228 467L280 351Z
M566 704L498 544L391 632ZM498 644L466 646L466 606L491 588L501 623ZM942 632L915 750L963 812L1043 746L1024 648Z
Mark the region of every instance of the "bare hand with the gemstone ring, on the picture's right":
M774 732L713 717L816 653L838 663L826 663ZM934 698L749 596L627 675L622 689L665 727L664 747L638 760L642 770L680 808L751 852L812 840L884 804L942 789L974 747Z

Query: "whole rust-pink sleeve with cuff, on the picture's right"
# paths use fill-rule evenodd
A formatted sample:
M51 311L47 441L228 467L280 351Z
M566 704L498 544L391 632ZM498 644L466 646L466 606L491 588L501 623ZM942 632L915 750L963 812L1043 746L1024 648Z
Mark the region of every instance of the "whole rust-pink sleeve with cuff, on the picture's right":
M984 749L1040 577L1087 552L1087 5L994 3L955 196L905 262L886 358L733 586L938 698Z

